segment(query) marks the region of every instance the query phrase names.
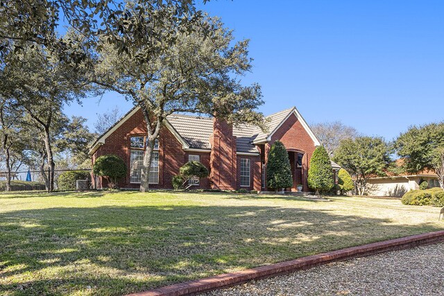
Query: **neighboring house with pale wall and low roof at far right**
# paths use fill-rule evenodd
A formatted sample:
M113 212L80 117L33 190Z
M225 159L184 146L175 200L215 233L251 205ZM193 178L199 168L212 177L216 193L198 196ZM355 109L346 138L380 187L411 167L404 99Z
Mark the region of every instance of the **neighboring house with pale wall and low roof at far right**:
M419 185L427 181L429 187L439 187L438 176L434 173L418 173L416 175L399 175L391 177L372 177L368 179L370 195L402 197L404 193L419 189Z

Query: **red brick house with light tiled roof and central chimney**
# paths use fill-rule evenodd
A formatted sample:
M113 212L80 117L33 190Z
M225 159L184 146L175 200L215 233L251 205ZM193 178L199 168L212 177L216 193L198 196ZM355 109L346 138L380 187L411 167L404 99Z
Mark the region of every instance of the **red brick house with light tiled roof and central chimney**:
M266 161L274 141L284 143L289 153L293 186L287 191L308 191L307 172L311 155L320 145L296 107L267 116L268 132L253 125L232 126L219 119L172 114L167 117L155 143L151 162L150 188L171 189L171 180L188 161L201 162L210 177L195 180L194 188L267 191ZM128 175L119 181L121 188L139 188L144 146L144 116L139 107L130 110L102 134L89 155L92 162L101 155L119 155L128 166ZM106 186L102 177L94 186Z

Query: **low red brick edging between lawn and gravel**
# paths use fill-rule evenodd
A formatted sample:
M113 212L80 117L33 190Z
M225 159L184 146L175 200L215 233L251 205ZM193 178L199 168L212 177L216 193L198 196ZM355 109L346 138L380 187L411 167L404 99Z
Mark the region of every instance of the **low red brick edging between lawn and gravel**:
M402 238L391 239L389 241L369 243L367 245L359 245L357 247L347 247L342 250L306 256L291 261L264 265L248 270L241 270L239 272L225 273L223 275L216 275L214 277L196 279L194 281L185 281L183 283L164 286L154 290L134 293L127 296L197 295L210 290L244 284L246 281L251 281L253 279L264 279L266 277L285 275L295 272L296 270L308 269L334 261L342 261L354 257L368 256L393 250L408 249L418 245L428 245L442 241L444 241L444 230L429 232L426 234L417 234L414 236L405 236Z

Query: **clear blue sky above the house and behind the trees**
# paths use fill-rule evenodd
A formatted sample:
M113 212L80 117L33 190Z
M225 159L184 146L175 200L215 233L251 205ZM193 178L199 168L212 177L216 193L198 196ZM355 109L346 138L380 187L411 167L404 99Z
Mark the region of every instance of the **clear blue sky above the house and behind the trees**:
M296 105L308 123L342 121L388 140L444 120L444 1L218 0L200 8L250 39L264 114ZM67 114L132 103L110 93Z

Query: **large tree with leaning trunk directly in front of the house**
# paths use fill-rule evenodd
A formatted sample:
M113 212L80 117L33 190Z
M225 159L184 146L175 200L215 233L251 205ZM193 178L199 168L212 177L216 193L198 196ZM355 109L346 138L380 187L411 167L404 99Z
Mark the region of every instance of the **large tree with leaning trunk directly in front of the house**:
M145 15L139 17L143 19ZM142 55L150 52L149 60L141 61L126 52L120 53L106 40L99 45L92 82L123 94L139 105L144 114L148 145L142 166L141 191L148 190L154 141L170 114L209 114L234 125L264 125L262 113L256 111L264 103L261 88L257 84L244 86L239 81L239 76L252 67L248 58L248 40L234 42L232 31L224 28L219 19L205 17L203 21L210 25L210 31L198 25L191 33L176 31L173 44L157 41L157 46L163 47L157 53L152 52L149 42L129 44L132 52ZM175 28L177 20L167 18L162 28L150 30L164 33L165 26ZM132 31L126 34L128 38L140 37L138 33L132 35L135 34Z

